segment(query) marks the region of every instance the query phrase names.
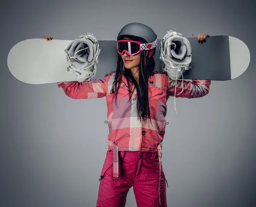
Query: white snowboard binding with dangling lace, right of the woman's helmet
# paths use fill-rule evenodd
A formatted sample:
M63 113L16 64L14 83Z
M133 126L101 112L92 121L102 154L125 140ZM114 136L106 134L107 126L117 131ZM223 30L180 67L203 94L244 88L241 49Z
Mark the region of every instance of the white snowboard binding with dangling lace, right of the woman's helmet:
M169 30L160 42L160 60L163 61L163 72L170 79L177 80L192 68L192 48L183 34Z

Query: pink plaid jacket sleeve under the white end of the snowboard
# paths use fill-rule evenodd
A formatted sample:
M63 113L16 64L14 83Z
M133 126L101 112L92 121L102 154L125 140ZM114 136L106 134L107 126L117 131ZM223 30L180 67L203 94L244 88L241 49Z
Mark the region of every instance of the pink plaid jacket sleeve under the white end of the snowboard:
M58 82L58 88L62 88L67 96L72 99L95 99L106 96L108 90L108 80L113 73L107 77L85 82Z

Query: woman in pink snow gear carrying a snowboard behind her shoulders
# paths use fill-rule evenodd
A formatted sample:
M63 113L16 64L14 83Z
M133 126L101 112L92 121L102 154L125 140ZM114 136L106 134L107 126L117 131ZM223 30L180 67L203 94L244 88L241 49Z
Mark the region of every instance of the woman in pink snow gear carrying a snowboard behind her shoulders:
M206 37L199 34L198 41ZM128 24L117 40L116 72L87 82L59 82L58 87L73 99L107 99L108 151L96 206L124 207L128 190L134 187L138 207L166 207L167 182L161 148L166 102L175 94L175 81L154 71L157 35L151 28L140 23ZM182 81L177 80L177 97L205 96L210 83L194 79L183 81L182 87Z

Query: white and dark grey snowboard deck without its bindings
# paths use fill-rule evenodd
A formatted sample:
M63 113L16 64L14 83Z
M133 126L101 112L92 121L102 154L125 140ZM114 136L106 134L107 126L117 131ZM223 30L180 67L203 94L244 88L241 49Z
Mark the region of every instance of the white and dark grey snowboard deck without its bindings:
M226 81L235 79L246 71L250 63L247 45L236 37L219 35L207 37L198 43L197 37L187 38L192 48L191 69L183 79L206 79ZM9 51L7 64L11 74L29 84L46 84L76 81L67 71L65 49L73 40L28 39L15 44ZM154 54L155 71L163 73L157 40ZM91 79L102 79L105 74L116 71L117 45L115 40L98 40L100 54L96 63L96 75Z

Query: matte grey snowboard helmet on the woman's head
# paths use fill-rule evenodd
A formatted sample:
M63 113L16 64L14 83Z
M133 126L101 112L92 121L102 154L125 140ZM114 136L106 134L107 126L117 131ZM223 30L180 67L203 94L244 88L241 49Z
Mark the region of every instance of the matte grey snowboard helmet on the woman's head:
M147 59L155 54L157 35L149 26L142 23L129 23L121 29L117 40L122 40L124 37L139 39L143 43L140 45L140 51L147 51Z

